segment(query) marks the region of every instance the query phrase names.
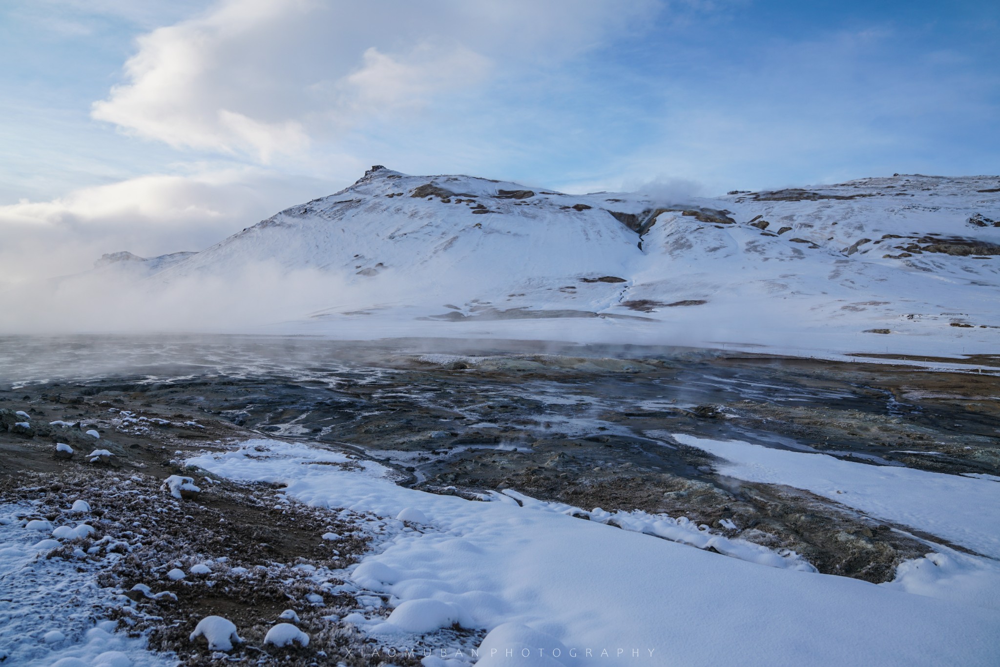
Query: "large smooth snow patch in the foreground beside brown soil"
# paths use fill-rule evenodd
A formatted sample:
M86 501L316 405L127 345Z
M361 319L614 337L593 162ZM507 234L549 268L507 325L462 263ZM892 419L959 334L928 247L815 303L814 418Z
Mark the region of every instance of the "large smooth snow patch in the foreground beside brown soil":
M994 610L762 567L531 503L415 491L395 485L371 462L360 471L310 465L336 460L346 457L252 440L188 463L220 477L284 483L288 497L312 506L381 517L422 512L425 525L395 533L351 572L356 585L390 596L388 619L361 613L344 619L377 635L433 632L431 626L451 623L495 631L513 623L527 629L505 630L491 641L516 644L521 637L533 644L523 633L544 633L576 654L565 664L580 665L639 664L633 650L652 651L650 665L988 665L1000 648ZM548 654L523 664L560 659L567 660Z

